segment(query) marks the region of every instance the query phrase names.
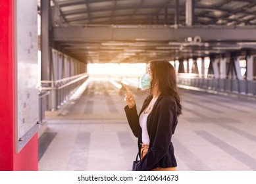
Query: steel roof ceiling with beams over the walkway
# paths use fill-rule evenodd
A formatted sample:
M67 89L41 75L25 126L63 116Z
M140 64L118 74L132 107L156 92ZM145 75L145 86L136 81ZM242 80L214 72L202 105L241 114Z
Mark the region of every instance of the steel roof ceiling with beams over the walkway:
M82 62L253 53L255 11L253 0L52 0L49 39Z

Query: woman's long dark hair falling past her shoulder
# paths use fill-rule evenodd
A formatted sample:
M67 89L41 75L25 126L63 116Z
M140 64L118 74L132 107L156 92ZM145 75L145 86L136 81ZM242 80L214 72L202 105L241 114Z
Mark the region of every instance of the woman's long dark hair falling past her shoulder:
M151 60L149 64L152 74L151 87L153 87L155 80L158 80L161 94L175 99L177 115L179 116L182 114L182 105L180 104L180 96L178 94L175 68L166 60Z

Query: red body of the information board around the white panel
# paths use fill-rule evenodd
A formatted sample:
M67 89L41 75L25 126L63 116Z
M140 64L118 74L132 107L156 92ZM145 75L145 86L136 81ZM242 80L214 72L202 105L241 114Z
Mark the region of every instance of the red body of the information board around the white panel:
M38 133L17 149L17 1L0 1L0 170L38 170Z

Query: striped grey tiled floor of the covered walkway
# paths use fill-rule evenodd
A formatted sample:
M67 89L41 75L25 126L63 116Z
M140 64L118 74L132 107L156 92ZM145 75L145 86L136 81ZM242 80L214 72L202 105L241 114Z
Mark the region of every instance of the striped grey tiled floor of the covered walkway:
M138 110L147 96L132 89ZM124 89L91 80L59 112L47 112L39 170L131 170L137 139L124 114ZM177 170L256 170L256 101L180 89L183 115L172 136Z

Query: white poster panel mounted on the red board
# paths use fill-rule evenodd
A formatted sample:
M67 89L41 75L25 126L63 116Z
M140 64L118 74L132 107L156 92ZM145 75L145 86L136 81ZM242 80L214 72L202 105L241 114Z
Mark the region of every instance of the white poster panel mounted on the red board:
M16 0L16 152L38 131L38 1Z

